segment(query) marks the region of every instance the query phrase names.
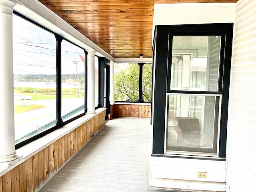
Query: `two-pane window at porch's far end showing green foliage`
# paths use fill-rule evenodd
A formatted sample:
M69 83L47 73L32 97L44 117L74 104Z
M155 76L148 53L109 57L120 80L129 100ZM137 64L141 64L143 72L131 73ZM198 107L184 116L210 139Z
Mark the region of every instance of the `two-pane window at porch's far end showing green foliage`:
M151 84L152 64L115 64L115 101L151 102Z

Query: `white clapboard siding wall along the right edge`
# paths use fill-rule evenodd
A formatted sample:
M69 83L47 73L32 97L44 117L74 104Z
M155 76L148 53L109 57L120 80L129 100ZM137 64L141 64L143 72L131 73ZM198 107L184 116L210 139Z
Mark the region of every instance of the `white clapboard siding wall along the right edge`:
M227 192L256 191L256 0L239 0L228 116Z

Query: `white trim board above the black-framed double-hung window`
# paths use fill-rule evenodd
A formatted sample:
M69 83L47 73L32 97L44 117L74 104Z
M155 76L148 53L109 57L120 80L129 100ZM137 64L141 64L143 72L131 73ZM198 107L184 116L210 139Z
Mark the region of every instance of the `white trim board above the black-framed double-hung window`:
M156 25L234 23L236 3L155 4L152 40Z

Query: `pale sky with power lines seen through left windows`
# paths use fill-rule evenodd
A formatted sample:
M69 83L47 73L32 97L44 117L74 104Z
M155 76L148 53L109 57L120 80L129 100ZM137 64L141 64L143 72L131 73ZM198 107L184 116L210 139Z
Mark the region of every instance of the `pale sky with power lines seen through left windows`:
M56 74L56 38L54 34L13 16L14 74ZM84 50L62 41L62 74L84 72L80 55Z

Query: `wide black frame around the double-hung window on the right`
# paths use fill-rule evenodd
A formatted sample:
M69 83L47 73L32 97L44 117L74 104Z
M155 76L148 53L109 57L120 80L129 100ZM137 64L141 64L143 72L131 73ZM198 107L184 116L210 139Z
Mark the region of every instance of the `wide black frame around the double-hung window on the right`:
M222 94L222 106L220 114L220 138L219 138L219 152L218 158L226 158L226 136L227 136L227 120L228 120L228 96L229 96L229 83L230 83L230 68L231 68L231 53L232 53L232 38L233 38L233 23L221 24L186 24L186 25L164 25L156 26L153 50L156 54L155 65L155 80L154 84L154 116L153 116L153 148L152 156L166 155L164 153L164 140L165 140L165 117L166 117L166 94L170 93L183 93L192 94L191 91L176 91L168 90L170 88L170 70L168 62L171 60L172 49L169 48L172 40L170 36L175 35L222 35L222 49L220 55L220 78L219 89L213 94ZM224 43L224 44L223 44ZM169 48L169 50L168 50ZM169 57L168 57L169 56ZM171 63L171 62L170 62ZM221 68L223 66L223 68ZM168 67L168 70L166 70ZM222 84L220 86L220 84ZM196 94L210 94L210 92L194 92ZM199 155L200 156L200 155ZM190 156L186 156L186 158ZM191 157L193 158L193 157ZM202 156L202 158L207 158Z

